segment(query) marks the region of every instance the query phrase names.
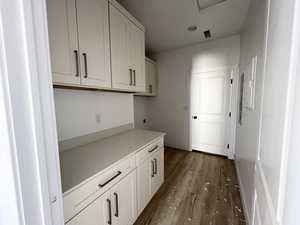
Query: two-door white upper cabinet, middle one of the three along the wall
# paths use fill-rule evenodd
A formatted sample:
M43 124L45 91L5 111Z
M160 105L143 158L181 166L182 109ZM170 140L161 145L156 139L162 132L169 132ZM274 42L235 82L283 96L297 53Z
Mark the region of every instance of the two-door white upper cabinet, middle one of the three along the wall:
M120 7L120 6L119 6ZM112 87L145 91L145 32L110 4Z

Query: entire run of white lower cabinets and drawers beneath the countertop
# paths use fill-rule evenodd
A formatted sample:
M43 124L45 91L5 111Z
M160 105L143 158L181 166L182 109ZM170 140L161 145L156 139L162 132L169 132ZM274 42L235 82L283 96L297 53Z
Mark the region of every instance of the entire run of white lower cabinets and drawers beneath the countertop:
M67 225L132 225L164 181L163 138L64 196Z

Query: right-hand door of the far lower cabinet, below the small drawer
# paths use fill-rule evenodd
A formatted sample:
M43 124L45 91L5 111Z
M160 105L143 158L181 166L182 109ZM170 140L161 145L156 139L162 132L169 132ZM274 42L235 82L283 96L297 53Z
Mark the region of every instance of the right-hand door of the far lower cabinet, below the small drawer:
M158 191L164 179L164 149L160 148L151 158L153 175L151 176L151 197Z

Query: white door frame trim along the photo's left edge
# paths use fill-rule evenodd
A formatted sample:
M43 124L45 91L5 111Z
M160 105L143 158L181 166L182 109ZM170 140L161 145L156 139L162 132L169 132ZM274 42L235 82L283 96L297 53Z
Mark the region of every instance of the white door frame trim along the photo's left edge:
M18 224L61 225L63 204L46 1L1 2L0 26L0 72L4 75L0 79L0 103L8 119L3 132L10 141L5 149L10 158L4 166L15 181L14 193L0 192L0 197L15 198L10 203L16 210L7 210L8 214L20 215Z

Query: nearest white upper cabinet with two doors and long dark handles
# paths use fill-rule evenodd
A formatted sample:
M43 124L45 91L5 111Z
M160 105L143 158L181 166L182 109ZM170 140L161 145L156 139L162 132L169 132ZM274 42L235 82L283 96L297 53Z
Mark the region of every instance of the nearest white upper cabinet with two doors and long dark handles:
M107 0L48 0L55 84L110 88Z

